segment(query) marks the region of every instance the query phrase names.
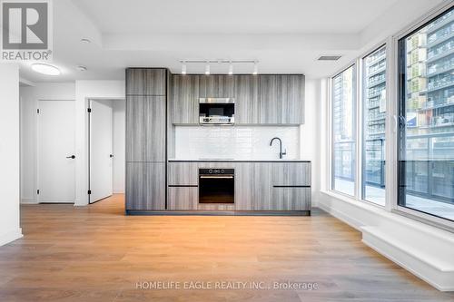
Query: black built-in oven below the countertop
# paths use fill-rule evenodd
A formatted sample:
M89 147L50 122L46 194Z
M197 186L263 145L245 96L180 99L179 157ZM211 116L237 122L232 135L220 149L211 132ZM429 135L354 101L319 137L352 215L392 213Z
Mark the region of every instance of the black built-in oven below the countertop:
M199 203L234 202L234 169L199 169Z

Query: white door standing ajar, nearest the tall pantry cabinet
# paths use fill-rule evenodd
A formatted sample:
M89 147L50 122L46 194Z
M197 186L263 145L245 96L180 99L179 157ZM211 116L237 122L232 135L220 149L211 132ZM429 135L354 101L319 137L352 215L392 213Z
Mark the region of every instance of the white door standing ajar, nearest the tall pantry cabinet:
M111 101L90 101L90 202L113 194L113 112Z

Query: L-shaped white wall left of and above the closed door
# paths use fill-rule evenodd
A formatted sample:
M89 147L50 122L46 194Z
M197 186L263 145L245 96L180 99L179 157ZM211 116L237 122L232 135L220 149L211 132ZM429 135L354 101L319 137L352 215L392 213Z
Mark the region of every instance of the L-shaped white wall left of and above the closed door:
M74 83L20 87L21 202L36 203L36 109L38 100L74 100Z

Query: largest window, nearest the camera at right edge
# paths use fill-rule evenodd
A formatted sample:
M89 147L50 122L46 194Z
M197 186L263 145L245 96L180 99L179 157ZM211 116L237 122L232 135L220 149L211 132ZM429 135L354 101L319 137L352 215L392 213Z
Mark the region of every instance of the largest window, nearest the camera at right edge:
M399 205L454 220L454 12L399 41Z

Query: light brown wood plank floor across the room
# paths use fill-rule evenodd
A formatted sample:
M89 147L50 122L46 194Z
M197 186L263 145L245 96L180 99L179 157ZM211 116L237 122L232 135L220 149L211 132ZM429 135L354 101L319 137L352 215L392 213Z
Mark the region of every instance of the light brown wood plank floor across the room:
M312 217L132 217L123 215L122 195L85 208L21 209L24 239L0 247L0 301L454 300L320 210ZM137 288L153 281L246 286ZM319 288L273 290L274 282Z

